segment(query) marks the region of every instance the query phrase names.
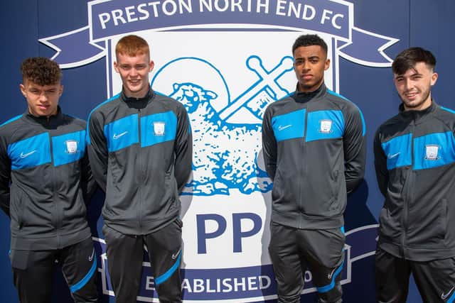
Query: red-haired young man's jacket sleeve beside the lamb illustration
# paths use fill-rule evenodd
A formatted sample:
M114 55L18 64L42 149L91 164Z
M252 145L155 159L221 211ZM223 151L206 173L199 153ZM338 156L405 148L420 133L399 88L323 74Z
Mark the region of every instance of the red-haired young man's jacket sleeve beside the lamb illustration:
M178 106L177 119L176 142L174 144L174 153L176 155L174 176L177 181L178 193L181 193L193 170L193 136L191 134L191 124L188 113L181 104Z

